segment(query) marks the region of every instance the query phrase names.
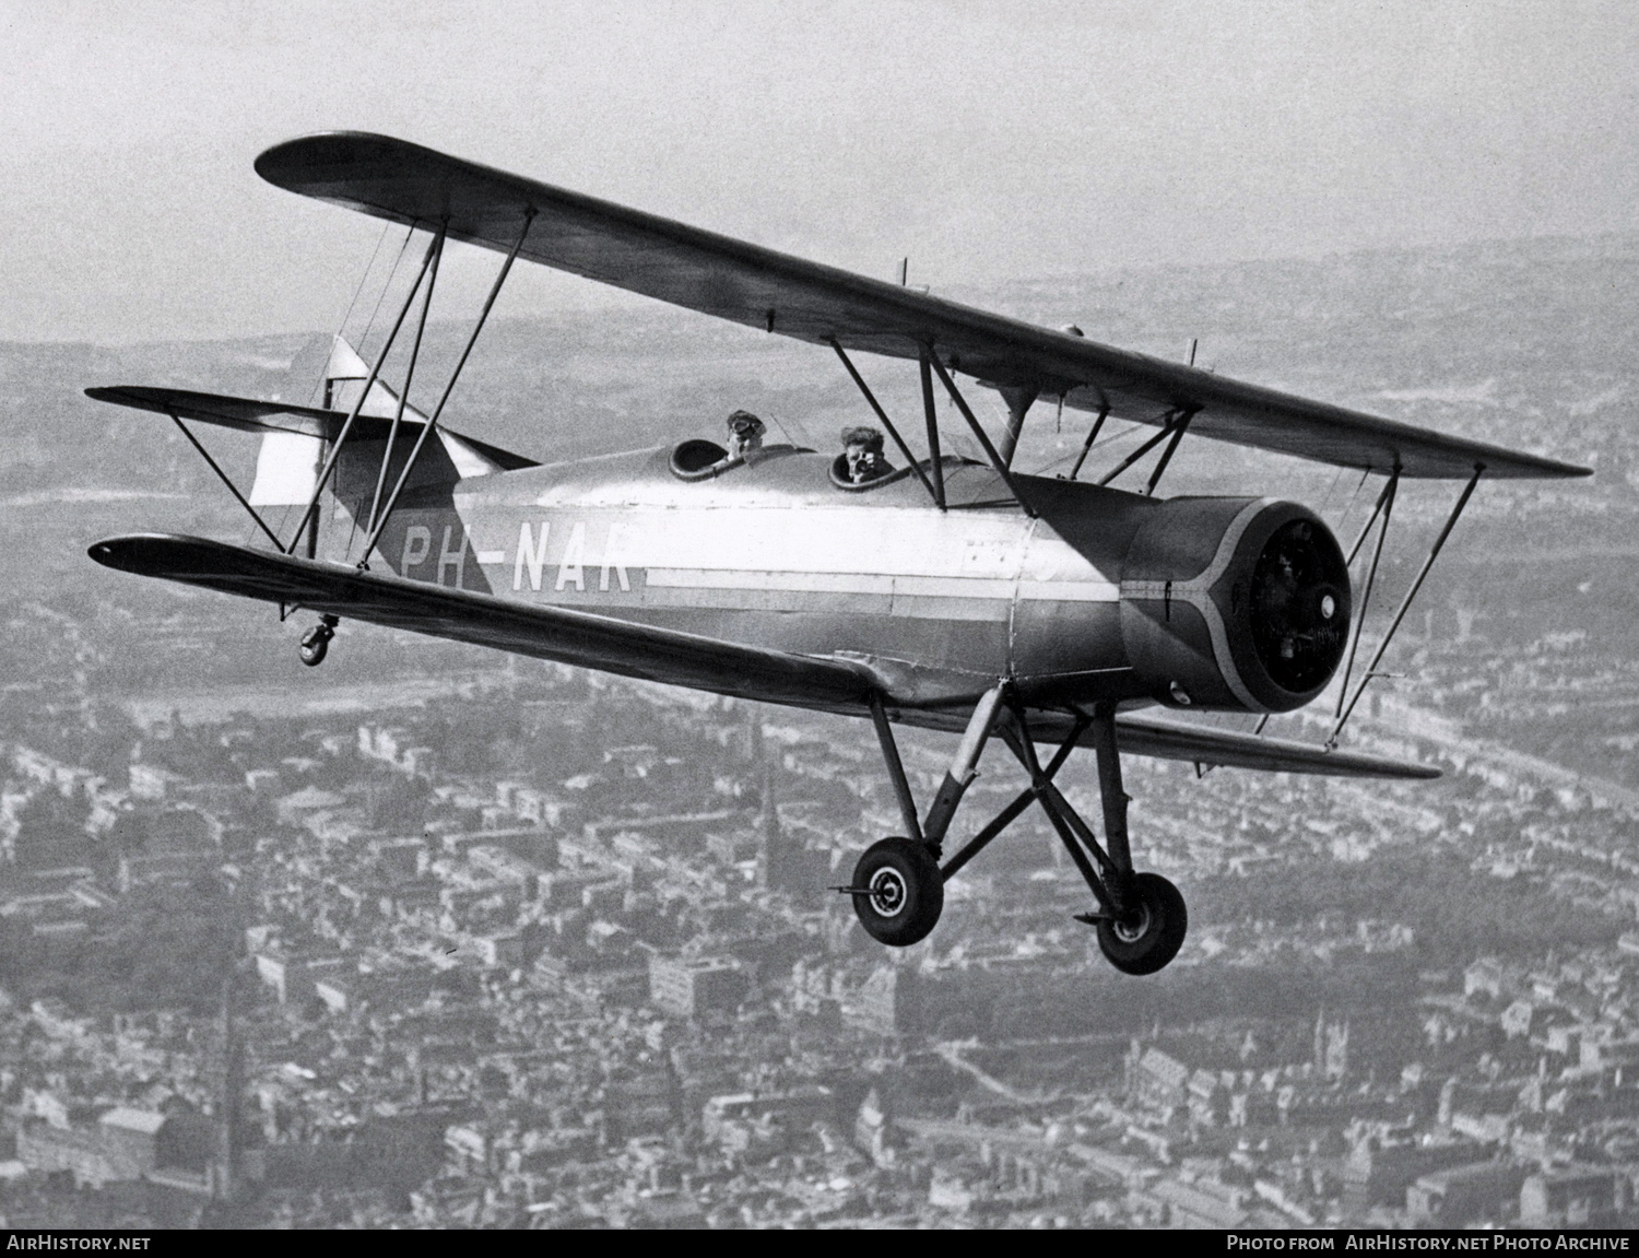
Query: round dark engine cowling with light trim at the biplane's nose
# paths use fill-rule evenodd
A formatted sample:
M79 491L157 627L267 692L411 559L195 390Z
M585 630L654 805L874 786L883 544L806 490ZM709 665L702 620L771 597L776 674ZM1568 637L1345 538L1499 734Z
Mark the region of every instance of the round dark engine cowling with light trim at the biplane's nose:
M1349 567L1314 512L1270 499L1170 499L1121 569L1121 638L1170 707L1290 712L1349 641Z

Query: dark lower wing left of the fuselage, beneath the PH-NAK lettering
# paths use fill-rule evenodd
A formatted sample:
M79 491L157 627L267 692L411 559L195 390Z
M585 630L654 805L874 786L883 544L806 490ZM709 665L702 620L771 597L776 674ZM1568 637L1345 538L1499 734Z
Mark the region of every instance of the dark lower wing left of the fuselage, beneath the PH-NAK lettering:
M864 705L872 687L869 672L842 661L741 646L203 538L139 533L98 541L90 556L107 567L139 576L300 604L390 628L774 704Z

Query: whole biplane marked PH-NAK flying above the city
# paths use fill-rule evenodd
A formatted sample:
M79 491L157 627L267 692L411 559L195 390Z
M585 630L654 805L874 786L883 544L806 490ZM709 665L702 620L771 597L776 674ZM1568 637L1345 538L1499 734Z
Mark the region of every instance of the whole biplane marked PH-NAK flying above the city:
M1187 909L1172 882L1134 868L1121 756L1436 777L1421 764L1339 748L1337 736L1482 476L1588 474L1123 351L1075 328L987 313L387 136L293 139L261 154L256 169L280 189L397 223L406 241L421 233L420 271L374 361L338 343L320 407L89 389L169 415L261 540L131 535L98 541L90 556L259 599L280 617L316 613L302 640L306 664L325 658L339 618L351 617L865 718L903 833L874 843L838 891L887 945L926 938L946 882L1039 805L1087 882L1092 907L1077 917L1096 928L1108 959L1129 974L1165 966L1183 943ZM447 241L503 261L436 405L421 412L408 402L410 385ZM860 481L839 458L801 446L729 451L697 438L543 464L457 433L444 423L446 403L518 259L820 346L857 387L860 415L892 438L898 463L882 459ZM384 364L403 341L395 389ZM915 364L919 433L893 422L857 354ZM1006 420L997 407L998 418L982 423L959 381L995 390ZM983 458L942 443L941 394L972 436L969 451ZM1092 417L1067 474L1015 467L1037 402ZM1096 481L1082 479L1111 418L1154 433ZM261 436L247 494L187 422ZM1344 549L1296 502L1160 497L1185 438L1354 469L1362 484L1375 476L1375 507ZM1113 484L1146 466L1141 487ZM1357 669L1396 490L1408 479L1462 487L1388 631ZM275 530L270 507L287 508L285 523L298 508L293 530ZM1262 720L1229 730L1178 717L1267 720L1316 700L1339 669L1324 743L1267 736ZM906 779L895 725L959 735L926 809ZM947 855L952 820L993 738L1029 784ZM1056 786L1082 746L1096 761L1101 836Z

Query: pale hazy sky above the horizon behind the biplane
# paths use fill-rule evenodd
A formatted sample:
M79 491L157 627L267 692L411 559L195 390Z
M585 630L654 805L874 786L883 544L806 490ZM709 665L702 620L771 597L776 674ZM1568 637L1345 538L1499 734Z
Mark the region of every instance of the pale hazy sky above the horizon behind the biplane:
M333 328L380 225L251 169L331 128L934 287L1639 228L1632 0L0 0L0 33L3 340Z

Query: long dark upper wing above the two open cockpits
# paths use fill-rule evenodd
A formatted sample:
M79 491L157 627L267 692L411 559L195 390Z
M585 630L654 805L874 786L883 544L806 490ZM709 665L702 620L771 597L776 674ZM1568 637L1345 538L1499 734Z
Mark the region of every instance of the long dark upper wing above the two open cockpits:
M1401 476L1588 476L1555 459L1442 436L1408 423L1244 384L1178 362L1039 328L913 289L764 249L657 215L388 136L292 139L256 159L290 192L408 226L447 223L452 238L620 289L805 341L895 358L933 346L952 371L1064 397L1065 405L1162 423L1195 412L1190 431L1346 467Z

